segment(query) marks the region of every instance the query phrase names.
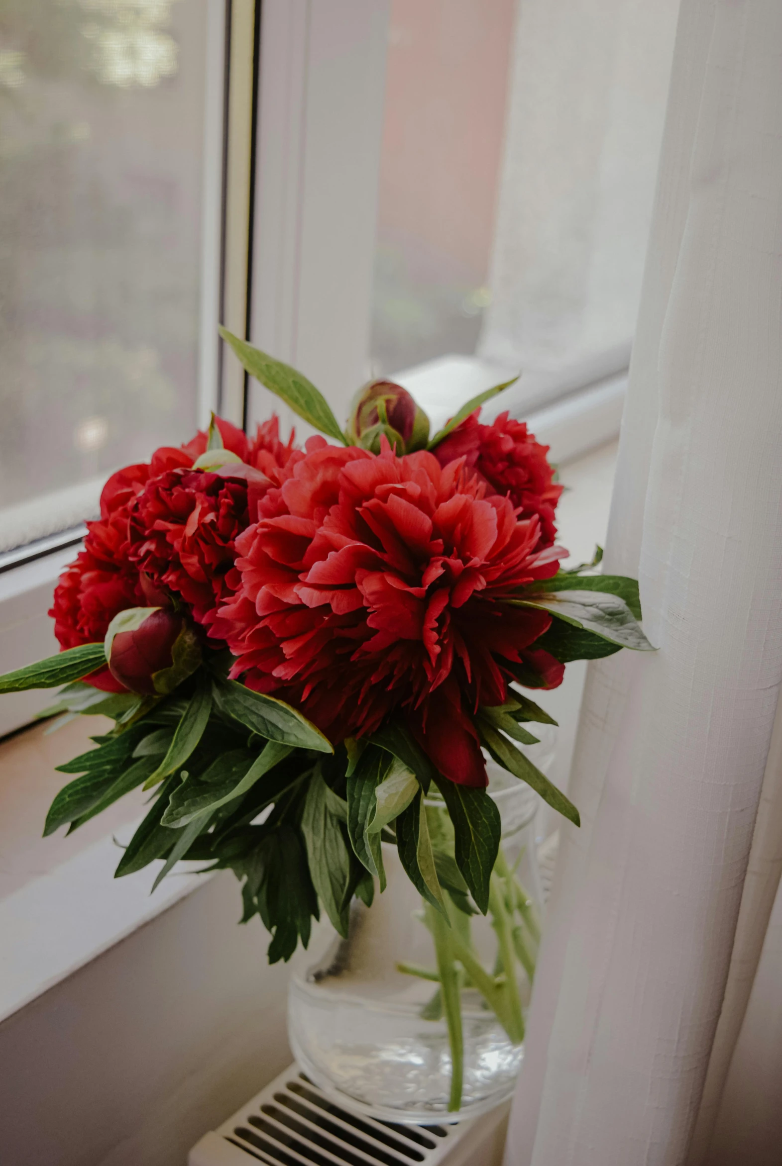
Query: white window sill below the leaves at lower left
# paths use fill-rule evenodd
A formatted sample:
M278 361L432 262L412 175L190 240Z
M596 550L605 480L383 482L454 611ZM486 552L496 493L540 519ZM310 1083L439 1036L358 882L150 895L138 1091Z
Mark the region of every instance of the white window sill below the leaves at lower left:
M0 1021L202 883L175 871L151 895L158 863L113 878L118 843L145 814L140 791L69 837L41 836L51 799L70 780L54 766L90 749L103 724L83 717L48 735L41 724L0 744Z

